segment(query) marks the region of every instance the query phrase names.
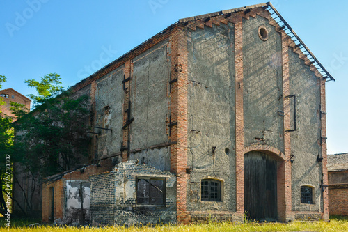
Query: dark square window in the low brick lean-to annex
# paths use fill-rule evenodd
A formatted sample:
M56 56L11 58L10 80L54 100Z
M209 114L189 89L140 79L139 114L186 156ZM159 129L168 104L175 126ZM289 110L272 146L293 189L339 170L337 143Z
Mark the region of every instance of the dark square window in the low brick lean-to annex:
M166 180L164 178L137 178L136 203L164 206L166 203Z

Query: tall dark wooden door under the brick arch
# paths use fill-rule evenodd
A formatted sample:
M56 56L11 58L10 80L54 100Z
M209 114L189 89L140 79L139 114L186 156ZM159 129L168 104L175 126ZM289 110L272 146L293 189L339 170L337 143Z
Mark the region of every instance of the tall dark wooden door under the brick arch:
M251 219L277 218L277 161L271 155L244 155L244 211Z

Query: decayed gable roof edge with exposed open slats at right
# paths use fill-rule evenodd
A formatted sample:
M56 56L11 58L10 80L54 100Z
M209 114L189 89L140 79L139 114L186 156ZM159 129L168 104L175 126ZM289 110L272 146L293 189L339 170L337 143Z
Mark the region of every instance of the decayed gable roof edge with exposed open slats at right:
M290 36L290 38L294 42L294 47L298 48L300 52L303 53L304 56L308 59L308 62L310 62L310 65L313 65L314 69L317 70L316 75L322 76L326 78L327 80L333 80L333 81L335 80L330 75L330 73L324 68L324 66L317 60L314 54L310 52L310 49L308 49L308 47L299 38L299 36L297 36L297 34L292 29L292 27L289 24L287 24L284 18L278 13L276 8L274 8L274 6L270 2L267 2L267 3L252 5L252 6L244 6L241 8L234 8L230 10L221 10L215 13L197 15L193 17L180 19L174 24L171 24L170 26L168 26L163 31L157 33L155 36L152 36L152 38L149 38L145 42L141 43L141 45L135 47L134 49L127 52L126 54L123 54L115 61L112 61L111 63L105 65L103 68L101 68L100 70L97 70L97 72L93 73L89 77L86 77L86 79L81 80L81 82L72 86L72 89L74 89L74 91L78 91L79 89L84 88L85 86L90 84L90 82L93 82L94 80L99 79L106 73L109 73L112 70L115 70L116 68L120 67L120 65L124 64L125 61L127 61L128 59L134 58L135 56L141 54L146 49L152 47L153 45L157 44L161 40L164 40L168 38L169 36L171 36L171 31L173 31L173 29L175 29L175 27L177 26L182 26L182 27L187 26L188 28L192 28L192 26L194 26L192 25L193 22L199 22L198 27L201 27L201 26L204 27L205 25L212 24L212 22L209 22L211 18L213 19L214 17L224 17L226 19L227 17L230 17L230 15L232 14L241 13L241 12L244 12L244 16L248 18L248 13L250 13L251 10L255 8L262 8L262 10L268 10L270 14L269 20L274 21L274 26L276 26L278 31L285 31L287 36ZM213 23L215 24L214 21Z

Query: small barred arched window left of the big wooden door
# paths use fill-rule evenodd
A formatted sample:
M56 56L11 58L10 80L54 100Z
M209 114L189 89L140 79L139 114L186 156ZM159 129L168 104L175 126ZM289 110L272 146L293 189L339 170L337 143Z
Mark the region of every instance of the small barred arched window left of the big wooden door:
M202 201L221 201L221 181L206 179L200 185Z

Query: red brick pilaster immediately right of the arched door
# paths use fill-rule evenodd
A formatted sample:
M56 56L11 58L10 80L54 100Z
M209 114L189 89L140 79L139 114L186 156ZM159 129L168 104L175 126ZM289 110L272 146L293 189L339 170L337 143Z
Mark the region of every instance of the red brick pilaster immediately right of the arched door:
M284 111L284 155L282 164L278 165L278 217L283 221L292 219L291 201L291 137L290 130L290 100L285 98L290 95L289 75L289 42L290 37L284 31L282 36L282 67L283 67L283 111Z

